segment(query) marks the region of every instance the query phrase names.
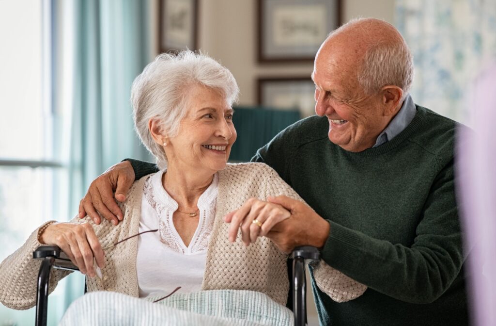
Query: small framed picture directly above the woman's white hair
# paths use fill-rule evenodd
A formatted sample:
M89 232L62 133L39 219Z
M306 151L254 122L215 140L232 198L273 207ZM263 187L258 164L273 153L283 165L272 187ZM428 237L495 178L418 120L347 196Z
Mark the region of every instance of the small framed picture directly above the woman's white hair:
M159 0L159 50L196 50L198 0Z

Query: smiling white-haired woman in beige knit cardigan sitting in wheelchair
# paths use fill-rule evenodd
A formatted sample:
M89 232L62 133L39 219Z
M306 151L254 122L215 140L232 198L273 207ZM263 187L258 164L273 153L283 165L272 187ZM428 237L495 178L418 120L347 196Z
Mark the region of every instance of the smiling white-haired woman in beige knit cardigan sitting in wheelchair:
M202 54L162 54L150 63L133 82L131 100L136 131L161 170L134 182L118 226L106 220L95 225L86 217L35 230L0 265L0 301L14 309L35 304L39 263L32 252L54 244L86 274L88 291L148 297L178 286L180 292L241 289L285 305L287 255L265 237L249 246L240 239L231 243L222 219L251 197L299 199L265 164L227 164L236 140L231 105L238 92L232 74ZM263 221L267 230L290 215L261 203L260 209L271 212ZM249 222L260 233L260 222ZM132 237L150 230L158 232ZM327 271L322 286L331 298L349 300L365 291L328 266ZM52 273L51 290L67 275Z

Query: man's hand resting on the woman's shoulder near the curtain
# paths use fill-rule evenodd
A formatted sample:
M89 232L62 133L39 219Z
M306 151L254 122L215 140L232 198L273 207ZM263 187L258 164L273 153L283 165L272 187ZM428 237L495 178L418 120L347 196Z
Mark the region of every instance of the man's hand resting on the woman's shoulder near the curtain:
M117 225L123 220L123 212L116 200L125 200L125 194L133 182L134 170L131 163L124 161L111 166L91 182L86 196L79 203L79 218L87 214L95 224L100 224L100 216L96 212L98 211L104 218Z

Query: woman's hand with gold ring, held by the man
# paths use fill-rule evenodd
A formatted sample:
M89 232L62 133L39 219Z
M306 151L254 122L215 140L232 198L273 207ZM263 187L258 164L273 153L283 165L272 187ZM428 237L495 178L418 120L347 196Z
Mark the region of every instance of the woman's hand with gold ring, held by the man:
M227 214L224 222L231 223L229 226L230 242L236 241L238 229L241 227L241 239L245 245L249 245L254 243L258 237L266 236L274 225L290 216L291 213L279 204L250 198L240 209Z

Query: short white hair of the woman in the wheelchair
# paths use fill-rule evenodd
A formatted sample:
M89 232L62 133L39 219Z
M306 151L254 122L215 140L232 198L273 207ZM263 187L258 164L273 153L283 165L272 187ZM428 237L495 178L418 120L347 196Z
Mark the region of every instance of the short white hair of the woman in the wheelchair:
M233 74L207 55L189 50L157 56L132 83L134 127L160 169L166 168L167 156L153 140L148 121L158 119L163 133L176 136L190 100L187 88L195 84L218 91L229 106L238 99Z

